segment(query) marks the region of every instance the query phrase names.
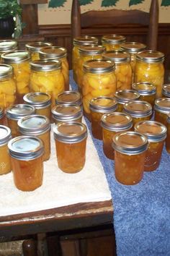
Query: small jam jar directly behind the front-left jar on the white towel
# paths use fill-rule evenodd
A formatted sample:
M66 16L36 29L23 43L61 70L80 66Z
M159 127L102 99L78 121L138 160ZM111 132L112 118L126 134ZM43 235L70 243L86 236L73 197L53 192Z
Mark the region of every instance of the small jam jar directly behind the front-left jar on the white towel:
M21 135L36 136L44 145L43 161L50 158L50 120L46 116L31 115L18 120Z

